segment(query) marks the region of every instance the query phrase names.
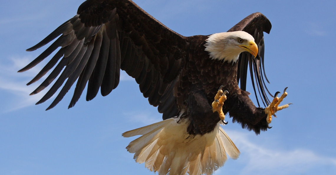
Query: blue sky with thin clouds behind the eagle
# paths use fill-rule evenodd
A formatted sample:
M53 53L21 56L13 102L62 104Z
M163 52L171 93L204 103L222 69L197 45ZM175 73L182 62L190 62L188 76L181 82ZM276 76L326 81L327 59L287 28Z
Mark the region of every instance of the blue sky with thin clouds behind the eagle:
M135 0L149 14L184 36L225 32L253 12L272 23L265 34L265 71L271 92L289 87L272 129L256 136L232 123L223 126L241 151L215 174L315 175L336 172L336 2ZM12 0L0 6L0 175L141 174L125 147L125 131L161 120L138 85L122 74L117 89L67 109L74 88L52 110L51 100L29 96L26 86L45 65L16 73L46 47L35 45L76 14L82 0ZM253 92L248 82L247 90ZM132 95L130 95L132 94ZM83 94L84 96L85 94ZM253 95L252 100L255 101Z

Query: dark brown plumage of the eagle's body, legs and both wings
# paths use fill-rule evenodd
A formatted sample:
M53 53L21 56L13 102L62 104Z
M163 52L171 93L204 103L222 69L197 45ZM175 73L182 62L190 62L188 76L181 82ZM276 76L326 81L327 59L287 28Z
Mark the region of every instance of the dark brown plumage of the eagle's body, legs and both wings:
M64 97L76 80L78 81L69 108L76 104L86 84L87 101L97 95L99 88L101 94L106 96L118 86L121 69L135 78L140 92L148 98L151 105L158 106L164 120L183 111L184 116L192 121L188 128L190 134L211 132L218 123L218 114L212 113L208 108L211 109L210 104L218 87L223 85L223 90L229 92L223 106L224 113L229 112L233 121L259 134L260 130L267 129L267 123L262 120L266 118L266 114L262 113L262 108L254 106L245 92L247 68L250 68L256 97L258 89L262 102L268 105L268 90L264 83L266 75L262 73L263 32L269 33L270 29L269 20L261 13L253 13L231 28L228 32L245 31L252 35L259 53L254 58L250 53L243 52L237 62L228 63L211 59L209 53L204 50L209 36L181 36L130 0L87 0L78 8L76 16L40 43L27 49L36 50L61 35L46 51L19 72L34 67L57 47L62 47L27 84L39 80L63 56L46 80L32 92L36 94L47 87L65 67L51 89L37 104L49 99L66 79L66 84L47 110ZM201 101L208 102L198 109L203 110L203 113L196 114L196 110L191 113L189 110L193 111ZM210 116L208 122L204 123L204 116Z

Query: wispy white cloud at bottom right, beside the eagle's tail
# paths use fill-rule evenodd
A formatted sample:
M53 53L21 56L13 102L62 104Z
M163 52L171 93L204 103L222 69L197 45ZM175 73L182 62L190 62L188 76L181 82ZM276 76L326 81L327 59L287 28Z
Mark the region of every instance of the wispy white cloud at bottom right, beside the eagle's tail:
M273 175L286 175L303 173L324 166L336 168L336 158L323 157L306 149L290 151L270 149L250 141L249 134L236 131L229 133L242 154L247 155L245 157L247 164L240 171L242 175L264 174L265 172Z

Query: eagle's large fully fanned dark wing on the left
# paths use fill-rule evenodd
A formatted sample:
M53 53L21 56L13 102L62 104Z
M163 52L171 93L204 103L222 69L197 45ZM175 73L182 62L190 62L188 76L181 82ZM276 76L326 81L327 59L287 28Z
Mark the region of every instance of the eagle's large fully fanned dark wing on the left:
M118 86L121 69L135 78L151 105L159 105L159 112L177 113L176 107L172 107L175 104L172 86L181 69L181 58L185 57L185 38L131 0L87 0L80 5L76 16L27 51L36 50L58 36L40 56L18 71L31 69L61 47L27 84L39 80L61 59L46 80L32 92L42 91L60 74L37 104L49 99L66 79L47 110L64 97L76 80L69 108L78 101L86 84L87 101L97 95L99 88L101 95L106 96Z

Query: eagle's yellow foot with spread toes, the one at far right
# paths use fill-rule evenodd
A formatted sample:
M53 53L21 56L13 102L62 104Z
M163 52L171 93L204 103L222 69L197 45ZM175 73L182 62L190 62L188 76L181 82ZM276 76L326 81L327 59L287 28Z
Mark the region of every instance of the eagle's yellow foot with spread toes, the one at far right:
M274 115L277 111L283 110L284 108L287 108L290 104L292 104L292 103L288 103L288 104L279 106L282 100L287 96L286 90L287 90L287 87L285 88L284 93L281 95L280 98L277 97L280 92L277 92L274 95L273 101L265 108L265 113L267 114L266 121L268 124L271 123L272 121L272 115ZM271 127L268 127L268 128L271 128Z

